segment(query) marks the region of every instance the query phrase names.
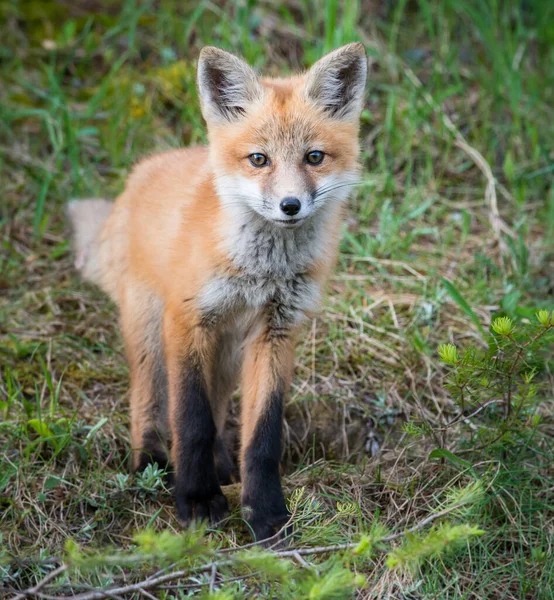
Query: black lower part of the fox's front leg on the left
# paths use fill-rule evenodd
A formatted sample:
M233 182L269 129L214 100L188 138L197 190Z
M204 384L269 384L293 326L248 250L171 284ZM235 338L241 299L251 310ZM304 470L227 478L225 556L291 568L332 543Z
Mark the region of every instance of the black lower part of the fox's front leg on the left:
M226 516L227 499L221 492L214 463L216 429L206 384L197 361L185 365L178 403L178 440L174 440L177 518L188 525L193 518L212 523Z

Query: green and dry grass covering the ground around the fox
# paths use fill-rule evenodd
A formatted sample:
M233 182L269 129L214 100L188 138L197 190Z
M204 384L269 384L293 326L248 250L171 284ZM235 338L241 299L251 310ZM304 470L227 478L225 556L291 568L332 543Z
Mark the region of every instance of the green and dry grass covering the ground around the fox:
M540 422L474 452L472 426L502 416L446 427L460 413L436 351L483 348L496 315L519 327L554 308L552 2L6 0L0 27L0 596L35 584L60 557L71 562L68 540L133 553L137 531L178 531L155 474L125 476L117 317L72 269L64 203L114 197L141 156L205 141L194 83L203 45L277 74L360 40L371 61L363 182L287 406L294 545L356 542L376 523L400 532L475 481L483 494L451 522L485 533L411 569L385 564L399 539L369 556L283 563L301 582L295 591L273 563L215 588L553 598L552 346L533 363ZM233 519L206 533L212 549L248 541L236 486L227 493ZM75 581L117 581L102 568L77 568Z

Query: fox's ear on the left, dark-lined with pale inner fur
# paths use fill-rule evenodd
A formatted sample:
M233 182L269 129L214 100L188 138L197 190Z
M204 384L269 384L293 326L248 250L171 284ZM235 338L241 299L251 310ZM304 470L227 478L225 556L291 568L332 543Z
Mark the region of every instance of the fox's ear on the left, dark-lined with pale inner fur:
M206 121L231 122L262 97L254 70L243 60L213 46L198 59L198 93Z

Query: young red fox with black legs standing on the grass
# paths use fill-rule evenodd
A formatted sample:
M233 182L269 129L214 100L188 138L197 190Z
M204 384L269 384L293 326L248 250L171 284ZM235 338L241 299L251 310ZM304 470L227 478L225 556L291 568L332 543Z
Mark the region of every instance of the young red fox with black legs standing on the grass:
M121 313L133 468L171 468L183 524L226 516L221 436L239 380L245 517L258 540L289 518L283 401L359 177L366 77L359 43L282 79L206 47L197 80L209 145L141 161L114 203L69 204L76 266Z

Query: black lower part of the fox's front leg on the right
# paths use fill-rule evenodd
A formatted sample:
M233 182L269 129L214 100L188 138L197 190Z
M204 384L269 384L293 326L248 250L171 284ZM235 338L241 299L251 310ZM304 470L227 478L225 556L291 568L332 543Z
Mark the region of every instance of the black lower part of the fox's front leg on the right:
M244 455L242 504L257 540L271 537L289 519L279 476L282 417L283 393L275 391Z

